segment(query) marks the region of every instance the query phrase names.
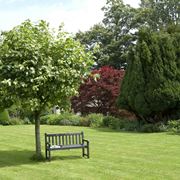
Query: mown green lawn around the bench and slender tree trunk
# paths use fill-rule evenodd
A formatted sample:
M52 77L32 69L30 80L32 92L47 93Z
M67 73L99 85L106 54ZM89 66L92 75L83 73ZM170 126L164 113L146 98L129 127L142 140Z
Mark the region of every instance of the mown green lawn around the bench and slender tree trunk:
M0 126L0 179L180 179L178 135L43 125L43 152L45 132L82 130L90 140L90 159L81 158L81 150L67 150L52 152L51 162L34 162L34 126Z

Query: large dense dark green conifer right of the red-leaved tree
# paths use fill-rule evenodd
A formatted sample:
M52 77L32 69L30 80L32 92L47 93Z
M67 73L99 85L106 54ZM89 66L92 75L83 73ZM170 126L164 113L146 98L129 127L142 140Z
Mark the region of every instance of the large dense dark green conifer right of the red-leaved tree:
M168 118L172 110L179 111L179 46L180 41L177 42L173 34L153 33L149 29L139 32L122 83L118 100L121 108L149 122Z

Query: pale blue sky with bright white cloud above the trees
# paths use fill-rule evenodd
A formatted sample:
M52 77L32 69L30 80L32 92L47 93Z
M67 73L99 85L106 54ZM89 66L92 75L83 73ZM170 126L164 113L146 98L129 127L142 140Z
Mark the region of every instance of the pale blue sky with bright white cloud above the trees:
M138 7L140 0L124 0ZM51 27L64 23L70 33L86 31L101 22L106 0L0 0L0 30L10 30L26 19L46 20Z

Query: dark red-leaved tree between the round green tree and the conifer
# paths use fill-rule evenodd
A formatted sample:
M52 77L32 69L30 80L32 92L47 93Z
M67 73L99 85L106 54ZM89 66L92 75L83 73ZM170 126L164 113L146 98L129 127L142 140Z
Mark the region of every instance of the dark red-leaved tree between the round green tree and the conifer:
M99 74L96 80L92 76L95 74ZM124 70L117 70L109 66L93 70L91 76L81 84L79 96L72 98L74 112L116 115L118 111L116 99L124 74Z

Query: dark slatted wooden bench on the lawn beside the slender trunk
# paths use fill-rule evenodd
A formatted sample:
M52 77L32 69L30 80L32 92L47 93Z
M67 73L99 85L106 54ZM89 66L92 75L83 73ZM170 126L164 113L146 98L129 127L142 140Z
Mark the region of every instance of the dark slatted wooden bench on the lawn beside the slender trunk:
M51 160L51 151L66 149L82 149L82 156L89 158L89 141L84 139L84 133L45 133L45 154L46 159ZM86 149L86 153L85 153Z

